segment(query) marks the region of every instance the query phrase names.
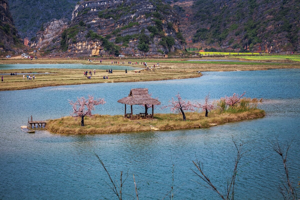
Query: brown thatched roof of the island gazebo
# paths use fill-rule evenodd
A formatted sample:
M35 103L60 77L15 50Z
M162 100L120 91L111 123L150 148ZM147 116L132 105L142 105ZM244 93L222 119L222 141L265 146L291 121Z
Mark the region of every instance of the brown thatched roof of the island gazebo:
M128 104L128 105L140 105L140 104L150 104L150 105L159 105L159 102L156 99L150 97L148 93L148 88L133 88L130 90L128 97L124 97L118 100L119 103Z

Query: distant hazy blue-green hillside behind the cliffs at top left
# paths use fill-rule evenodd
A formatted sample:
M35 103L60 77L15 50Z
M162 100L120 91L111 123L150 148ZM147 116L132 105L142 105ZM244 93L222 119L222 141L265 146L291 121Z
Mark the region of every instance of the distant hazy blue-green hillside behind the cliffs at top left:
M22 38L35 37L43 23L62 17L71 19L78 0L7 0Z

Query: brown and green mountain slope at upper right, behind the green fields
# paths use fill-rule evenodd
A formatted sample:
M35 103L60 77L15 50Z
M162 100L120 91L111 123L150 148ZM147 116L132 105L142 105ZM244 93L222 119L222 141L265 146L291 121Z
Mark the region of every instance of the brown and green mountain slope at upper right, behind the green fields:
M300 1L177 1L188 46L240 52L300 51Z

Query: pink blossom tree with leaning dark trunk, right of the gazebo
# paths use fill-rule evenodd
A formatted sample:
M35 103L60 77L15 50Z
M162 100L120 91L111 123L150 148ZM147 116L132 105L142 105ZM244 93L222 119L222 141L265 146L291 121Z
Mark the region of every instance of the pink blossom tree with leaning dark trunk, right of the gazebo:
M173 113L182 113L183 121L185 121L185 115L183 111L195 111L194 104L191 101L186 101L186 99L182 100L179 92L175 95L176 99L172 97L172 99L169 101L169 105L162 106L161 109L165 109L167 107L171 107L171 111ZM178 100L177 100L178 99Z

